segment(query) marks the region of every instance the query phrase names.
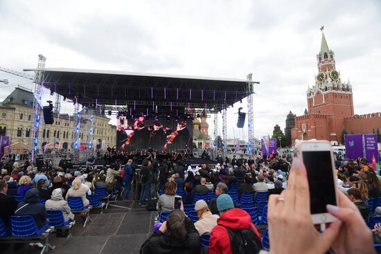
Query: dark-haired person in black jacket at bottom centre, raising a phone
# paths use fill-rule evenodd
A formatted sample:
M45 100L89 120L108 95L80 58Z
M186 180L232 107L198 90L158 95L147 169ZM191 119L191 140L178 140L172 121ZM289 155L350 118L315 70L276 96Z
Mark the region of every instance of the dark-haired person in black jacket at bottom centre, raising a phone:
M143 243L140 253L198 254L200 249L200 235L195 224L186 217L183 210L176 209L168 215L159 230Z

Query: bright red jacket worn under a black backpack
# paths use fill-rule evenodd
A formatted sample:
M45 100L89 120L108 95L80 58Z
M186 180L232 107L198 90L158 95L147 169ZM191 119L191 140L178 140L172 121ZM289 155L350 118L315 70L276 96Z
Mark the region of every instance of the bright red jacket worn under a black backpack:
M260 239L256 226L251 223L250 215L239 208L231 209L218 219L217 226L212 229L209 254L231 254L229 233L224 226L232 229L245 229L251 226Z

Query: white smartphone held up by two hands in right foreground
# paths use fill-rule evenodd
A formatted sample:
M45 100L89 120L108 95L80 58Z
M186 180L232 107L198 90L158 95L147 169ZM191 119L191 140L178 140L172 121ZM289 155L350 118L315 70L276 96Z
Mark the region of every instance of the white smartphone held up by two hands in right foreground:
M337 206L335 161L328 141L308 140L300 143L299 158L303 161L310 187L310 210L314 224L336 221L326 205Z

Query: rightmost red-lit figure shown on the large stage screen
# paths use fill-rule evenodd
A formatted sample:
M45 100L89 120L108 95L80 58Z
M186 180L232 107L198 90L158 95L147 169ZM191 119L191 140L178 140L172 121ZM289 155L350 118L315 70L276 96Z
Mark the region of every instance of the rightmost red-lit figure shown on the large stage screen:
M186 120L179 120L177 122L176 131L167 136L167 143L163 149L174 151L175 149L185 149L189 143L189 129L186 127Z

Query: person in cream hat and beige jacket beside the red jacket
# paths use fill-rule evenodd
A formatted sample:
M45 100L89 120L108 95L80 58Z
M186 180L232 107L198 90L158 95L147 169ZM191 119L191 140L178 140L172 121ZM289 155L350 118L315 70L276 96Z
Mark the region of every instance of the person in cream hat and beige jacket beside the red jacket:
M195 228L200 235L211 233L212 228L217 225L218 215L213 215L208 208L208 204L204 200L196 202L195 210L197 211L198 221L195 222Z

